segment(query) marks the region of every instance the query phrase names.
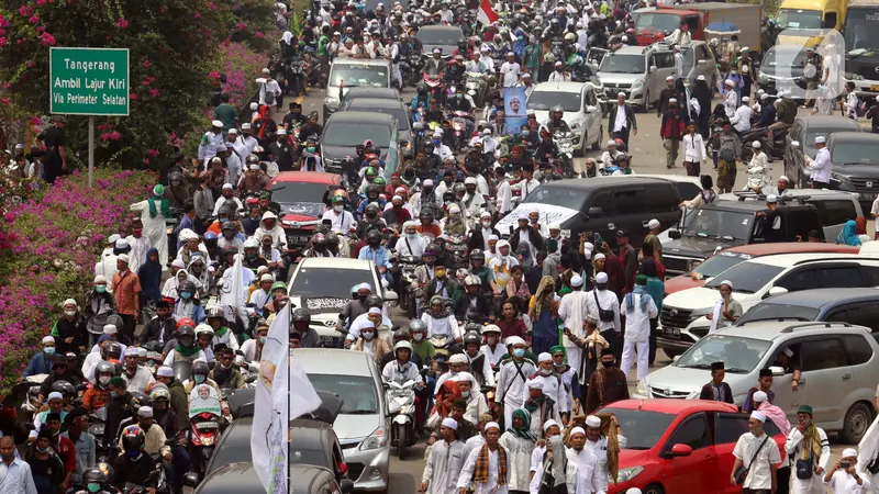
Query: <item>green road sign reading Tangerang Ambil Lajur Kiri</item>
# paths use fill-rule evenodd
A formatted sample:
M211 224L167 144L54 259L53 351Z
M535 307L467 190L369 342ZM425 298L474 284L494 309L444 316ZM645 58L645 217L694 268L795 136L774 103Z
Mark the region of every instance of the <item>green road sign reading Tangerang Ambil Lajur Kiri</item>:
M127 48L51 48L52 113L129 114Z

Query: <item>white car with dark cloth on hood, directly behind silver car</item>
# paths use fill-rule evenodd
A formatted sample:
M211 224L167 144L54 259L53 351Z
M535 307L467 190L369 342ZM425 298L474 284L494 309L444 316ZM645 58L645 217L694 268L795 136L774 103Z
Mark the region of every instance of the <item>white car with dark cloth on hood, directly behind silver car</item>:
M385 288L372 261L310 257L296 267L289 284L290 303L309 310L311 327L325 346L341 348L345 335L336 330L338 315L351 302L352 289L360 283L369 283L386 303L397 301L397 292Z

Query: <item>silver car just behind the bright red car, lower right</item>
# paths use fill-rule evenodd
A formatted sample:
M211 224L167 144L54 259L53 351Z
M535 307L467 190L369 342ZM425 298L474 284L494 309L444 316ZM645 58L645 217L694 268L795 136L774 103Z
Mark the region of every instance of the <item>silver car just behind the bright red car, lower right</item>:
M778 364L790 349L791 361L802 371L799 389L791 389L791 372ZM724 362L725 382L733 401L742 406L757 385L761 369L774 380L772 403L795 424L800 405L811 405L814 422L838 431L845 442L858 444L876 416L874 396L879 373L879 344L870 329L847 323L755 322L709 335L666 368L638 381L634 398L697 400L711 381L711 363Z

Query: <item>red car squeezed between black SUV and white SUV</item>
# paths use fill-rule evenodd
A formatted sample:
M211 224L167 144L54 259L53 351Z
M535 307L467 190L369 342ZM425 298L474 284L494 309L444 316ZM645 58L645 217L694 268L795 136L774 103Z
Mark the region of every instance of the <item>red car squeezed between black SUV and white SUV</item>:
M711 278L716 277L739 262L754 259L755 257L770 254L858 254L859 249L859 247L852 247L848 245L812 242L749 244L730 247L705 259L702 263L693 268L692 271L666 280L665 293L669 295L681 290L703 287Z

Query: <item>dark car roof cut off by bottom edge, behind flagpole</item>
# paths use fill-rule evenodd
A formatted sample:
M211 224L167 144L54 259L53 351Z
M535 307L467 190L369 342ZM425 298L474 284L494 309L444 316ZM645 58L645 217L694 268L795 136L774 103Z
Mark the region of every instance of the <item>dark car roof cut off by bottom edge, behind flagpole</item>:
M311 464L290 462L291 493L343 493L354 492L354 482L338 481L331 470ZM253 463L231 463L204 478L193 494L265 494L266 490L254 471Z

